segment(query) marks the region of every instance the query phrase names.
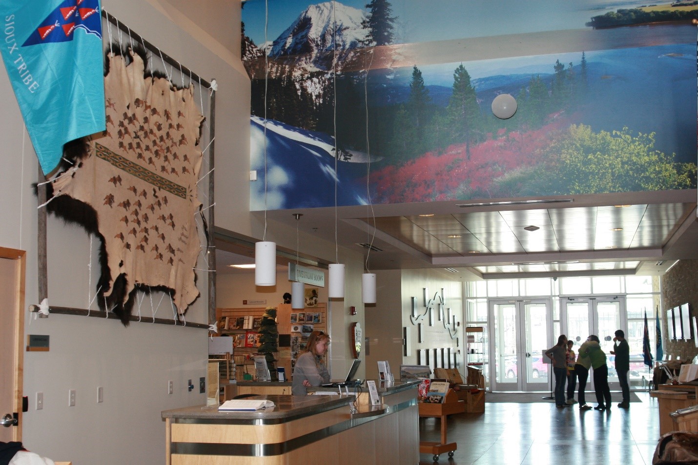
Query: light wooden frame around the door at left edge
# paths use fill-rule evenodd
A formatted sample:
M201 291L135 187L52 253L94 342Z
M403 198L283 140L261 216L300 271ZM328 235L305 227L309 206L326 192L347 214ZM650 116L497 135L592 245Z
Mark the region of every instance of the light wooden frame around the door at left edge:
M13 428L13 441L22 441L22 394L23 394L23 374L24 374L24 286L25 271L27 270L27 252L23 250L7 249L0 246L0 258L16 260L15 276L17 287L15 288L15 354L13 364L15 374L13 385L15 396L13 399L13 412L17 412L18 424Z

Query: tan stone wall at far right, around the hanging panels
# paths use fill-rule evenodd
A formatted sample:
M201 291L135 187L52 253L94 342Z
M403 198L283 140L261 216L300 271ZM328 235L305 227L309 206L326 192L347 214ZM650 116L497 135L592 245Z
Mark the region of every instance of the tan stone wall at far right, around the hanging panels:
M662 338L664 353L671 354L672 359L678 355L681 360L692 360L698 354L696 334L688 341L667 339L667 309L686 302L690 304L691 316L698 316L698 260L681 260L662 276Z

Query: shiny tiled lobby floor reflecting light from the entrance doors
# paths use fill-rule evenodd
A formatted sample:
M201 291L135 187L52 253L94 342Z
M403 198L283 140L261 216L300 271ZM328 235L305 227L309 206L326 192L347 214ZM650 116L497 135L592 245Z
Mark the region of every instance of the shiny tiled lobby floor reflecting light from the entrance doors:
M486 404L485 413L451 415L448 442L455 441L448 465L650 465L659 438L659 413L648 392L629 409L579 411L553 402ZM619 397L619 396L616 396ZM595 406L596 404L591 404ZM438 418L421 418L422 441L440 441ZM433 464L421 454L419 464Z

